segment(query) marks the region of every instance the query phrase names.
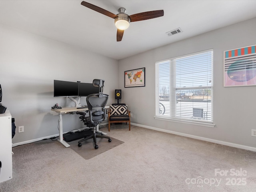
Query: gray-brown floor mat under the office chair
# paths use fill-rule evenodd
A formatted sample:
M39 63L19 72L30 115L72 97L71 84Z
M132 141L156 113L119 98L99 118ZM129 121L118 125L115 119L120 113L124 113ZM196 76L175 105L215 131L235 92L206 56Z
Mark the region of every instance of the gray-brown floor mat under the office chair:
M79 139L81 140L81 139ZM84 159L88 160L91 159L101 153L104 153L124 142L112 138L111 137L111 142L108 142L108 139L106 138L97 138L97 145L99 146L98 149L94 149L94 142L93 139L86 140L82 142L82 146L78 147L78 141L79 140L74 140L71 142L68 142L70 145L70 148L77 152L80 156L82 156Z

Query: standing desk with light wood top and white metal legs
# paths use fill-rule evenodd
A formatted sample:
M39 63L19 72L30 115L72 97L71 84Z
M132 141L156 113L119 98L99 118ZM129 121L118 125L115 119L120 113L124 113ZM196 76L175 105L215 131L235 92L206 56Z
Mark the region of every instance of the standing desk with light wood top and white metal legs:
M105 106L105 108L109 108L109 106ZM70 145L67 144L67 142L63 140L62 114L67 114L68 112L84 111L84 110L88 110L88 108L78 109L76 107L65 107L65 108L61 108L61 109L52 109L52 111L55 111L55 112L59 113L59 117L60 117L59 135L60 136L59 136L58 142L60 142L65 147L70 147ZM99 126L97 126L96 131L106 135L106 133L104 133L102 131L99 131Z

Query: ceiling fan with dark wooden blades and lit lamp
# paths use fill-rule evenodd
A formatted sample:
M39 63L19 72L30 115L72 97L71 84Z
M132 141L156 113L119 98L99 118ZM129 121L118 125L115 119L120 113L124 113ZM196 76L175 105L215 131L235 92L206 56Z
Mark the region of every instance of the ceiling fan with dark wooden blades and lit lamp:
M126 30L129 27L130 22L142 21L142 20L153 19L153 18L164 16L164 10L148 11L148 12L142 12L142 13L137 13L133 15L127 15L126 9L123 7L118 9L119 14L113 14L105 9L102 9L88 2L82 1L81 5L86 6L106 16L109 16L115 20L115 25L117 27L116 41L122 40L124 35L124 30Z

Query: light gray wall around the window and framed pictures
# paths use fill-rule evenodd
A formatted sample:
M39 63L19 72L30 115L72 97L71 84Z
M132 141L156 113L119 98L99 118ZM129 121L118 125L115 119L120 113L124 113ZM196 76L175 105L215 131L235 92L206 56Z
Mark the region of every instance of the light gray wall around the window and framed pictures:
M123 102L133 113L131 121L197 138L256 147L256 137L251 136L251 129L256 129L256 86L223 86L223 52L255 45L255 31L256 18L119 60L118 86L122 89ZM214 50L213 108L216 126L209 128L155 120L155 62L211 48ZM146 86L124 88L124 71L142 67L146 67Z

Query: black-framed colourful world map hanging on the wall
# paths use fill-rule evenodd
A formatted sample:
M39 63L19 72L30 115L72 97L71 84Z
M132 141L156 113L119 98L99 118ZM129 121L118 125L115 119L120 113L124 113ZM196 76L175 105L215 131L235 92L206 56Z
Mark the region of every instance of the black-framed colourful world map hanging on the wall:
M145 68L124 72L124 87L145 86Z

